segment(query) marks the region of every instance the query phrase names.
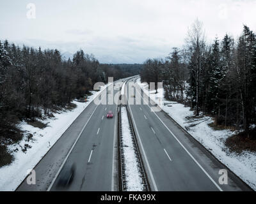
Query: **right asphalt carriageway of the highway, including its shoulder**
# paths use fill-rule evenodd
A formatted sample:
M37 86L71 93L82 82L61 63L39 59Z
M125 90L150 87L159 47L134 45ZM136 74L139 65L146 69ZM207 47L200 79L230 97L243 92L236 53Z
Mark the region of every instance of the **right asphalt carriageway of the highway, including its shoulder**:
M136 80L130 80L136 82ZM250 191L251 189L228 170L228 184L220 185L218 159L180 128L166 113L151 112L151 101L143 105L143 91L138 85L127 86L127 98L140 141L145 167L155 191ZM129 90L132 89L132 90ZM148 98L146 98L148 99Z

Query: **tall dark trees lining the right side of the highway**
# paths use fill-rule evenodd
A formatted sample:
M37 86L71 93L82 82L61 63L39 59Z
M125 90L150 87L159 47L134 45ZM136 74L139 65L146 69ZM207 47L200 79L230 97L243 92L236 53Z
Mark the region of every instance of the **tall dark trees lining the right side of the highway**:
M248 26L237 40L226 34L207 45L196 20L183 48L148 59L140 75L144 82L163 82L165 98L188 103L196 116L213 115L216 124L250 136L256 123L256 34Z

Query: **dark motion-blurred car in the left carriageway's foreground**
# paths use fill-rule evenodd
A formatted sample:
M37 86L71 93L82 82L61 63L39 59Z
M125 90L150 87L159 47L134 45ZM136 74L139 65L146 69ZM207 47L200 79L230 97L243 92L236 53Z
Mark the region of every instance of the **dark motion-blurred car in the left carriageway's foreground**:
M75 164L64 165L63 169L60 172L60 180L58 181L58 186L67 187L70 186L72 180L74 179L76 171Z

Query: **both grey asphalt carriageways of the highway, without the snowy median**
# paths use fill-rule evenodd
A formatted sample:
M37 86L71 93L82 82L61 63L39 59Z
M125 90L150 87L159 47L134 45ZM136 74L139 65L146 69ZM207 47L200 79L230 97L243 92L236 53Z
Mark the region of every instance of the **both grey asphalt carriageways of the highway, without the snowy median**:
M219 170L226 167L166 113L151 112L153 103L143 105L138 85L125 89L127 99L141 102L128 108L152 191L251 190L229 170L228 184L220 185ZM103 94L102 99L108 101L109 94ZM25 179L17 191L118 191L116 108L112 103L90 103L35 166L36 185L28 185ZM106 119L108 110L114 112L113 119ZM72 163L76 164L72 184L58 187L61 169Z

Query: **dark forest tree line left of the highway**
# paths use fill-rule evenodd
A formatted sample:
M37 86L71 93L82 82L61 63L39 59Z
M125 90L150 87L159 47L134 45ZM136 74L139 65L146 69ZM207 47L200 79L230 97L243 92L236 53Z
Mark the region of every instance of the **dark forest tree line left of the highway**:
M138 72L138 71L137 71ZM79 50L63 60L59 50L19 47L0 41L0 139L19 140L21 120L35 120L83 98L96 82L127 77L113 64L100 64Z

